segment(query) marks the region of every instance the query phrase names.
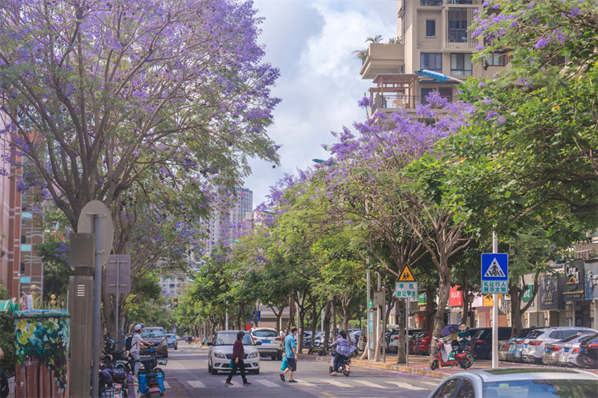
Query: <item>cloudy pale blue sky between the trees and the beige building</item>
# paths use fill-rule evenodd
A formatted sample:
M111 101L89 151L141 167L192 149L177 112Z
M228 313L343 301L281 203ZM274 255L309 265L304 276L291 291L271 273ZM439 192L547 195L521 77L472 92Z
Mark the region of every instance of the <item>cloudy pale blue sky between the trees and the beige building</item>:
M366 117L357 106L371 81L359 74L355 50L367 48L365 39L381 34L383 42L396 36L394 0L254 0L265 17L259 41L266 46L265 60L281 71L274 96L282 99L274 111L268 134L279 150L281 165L255 160L246 186L253 191L253 206L265 200L285 173L326 158L323 143L333 142L339 131Z

